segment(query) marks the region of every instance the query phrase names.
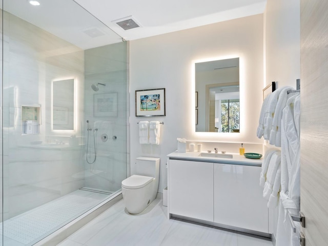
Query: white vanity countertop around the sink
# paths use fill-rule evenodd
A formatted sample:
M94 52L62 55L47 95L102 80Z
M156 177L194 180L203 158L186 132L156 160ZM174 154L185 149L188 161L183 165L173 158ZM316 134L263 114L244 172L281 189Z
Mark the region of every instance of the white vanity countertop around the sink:
M257 167L261 167L263 161L263 157L260 159L250 159L244 157L243 155L239 155L239 153L226 153L226 154L233 155L232 158L200 156L200 153L201 152L190 152L190 151L187 151L185 153L180 153L174 151L168 154L167 156L170 159L176 159L176 160L193 160L193 161L204 161L204 162L214 162L214 163L222 163L222 164L257 166ZM202 153L207 153L207 152L202 152Z

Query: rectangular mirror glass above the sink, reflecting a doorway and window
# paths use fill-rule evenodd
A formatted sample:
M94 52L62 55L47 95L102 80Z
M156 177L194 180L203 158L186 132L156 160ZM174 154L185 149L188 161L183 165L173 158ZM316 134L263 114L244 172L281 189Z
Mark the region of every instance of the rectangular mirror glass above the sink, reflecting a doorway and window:
M239 132L239 58L195 63L195 91L196 132Z

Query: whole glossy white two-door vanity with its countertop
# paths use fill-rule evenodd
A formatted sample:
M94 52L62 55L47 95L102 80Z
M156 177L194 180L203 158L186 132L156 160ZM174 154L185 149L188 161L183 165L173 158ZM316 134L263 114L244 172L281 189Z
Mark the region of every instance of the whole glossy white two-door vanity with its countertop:
M168 162L168 214L217 227L270 235L261 160L173 152Z

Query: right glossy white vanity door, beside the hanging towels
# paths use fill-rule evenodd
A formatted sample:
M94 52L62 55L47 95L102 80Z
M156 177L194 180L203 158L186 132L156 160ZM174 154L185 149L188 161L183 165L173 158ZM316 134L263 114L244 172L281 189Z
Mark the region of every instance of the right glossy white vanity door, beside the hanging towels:
M261 168L214 163L214 222L269 233Z

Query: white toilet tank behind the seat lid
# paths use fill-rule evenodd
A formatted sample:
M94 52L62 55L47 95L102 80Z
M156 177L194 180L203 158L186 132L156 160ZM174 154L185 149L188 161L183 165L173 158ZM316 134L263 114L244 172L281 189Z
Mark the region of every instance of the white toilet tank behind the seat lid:
M159 158L138 157L135 161L136 174L158 178Z

